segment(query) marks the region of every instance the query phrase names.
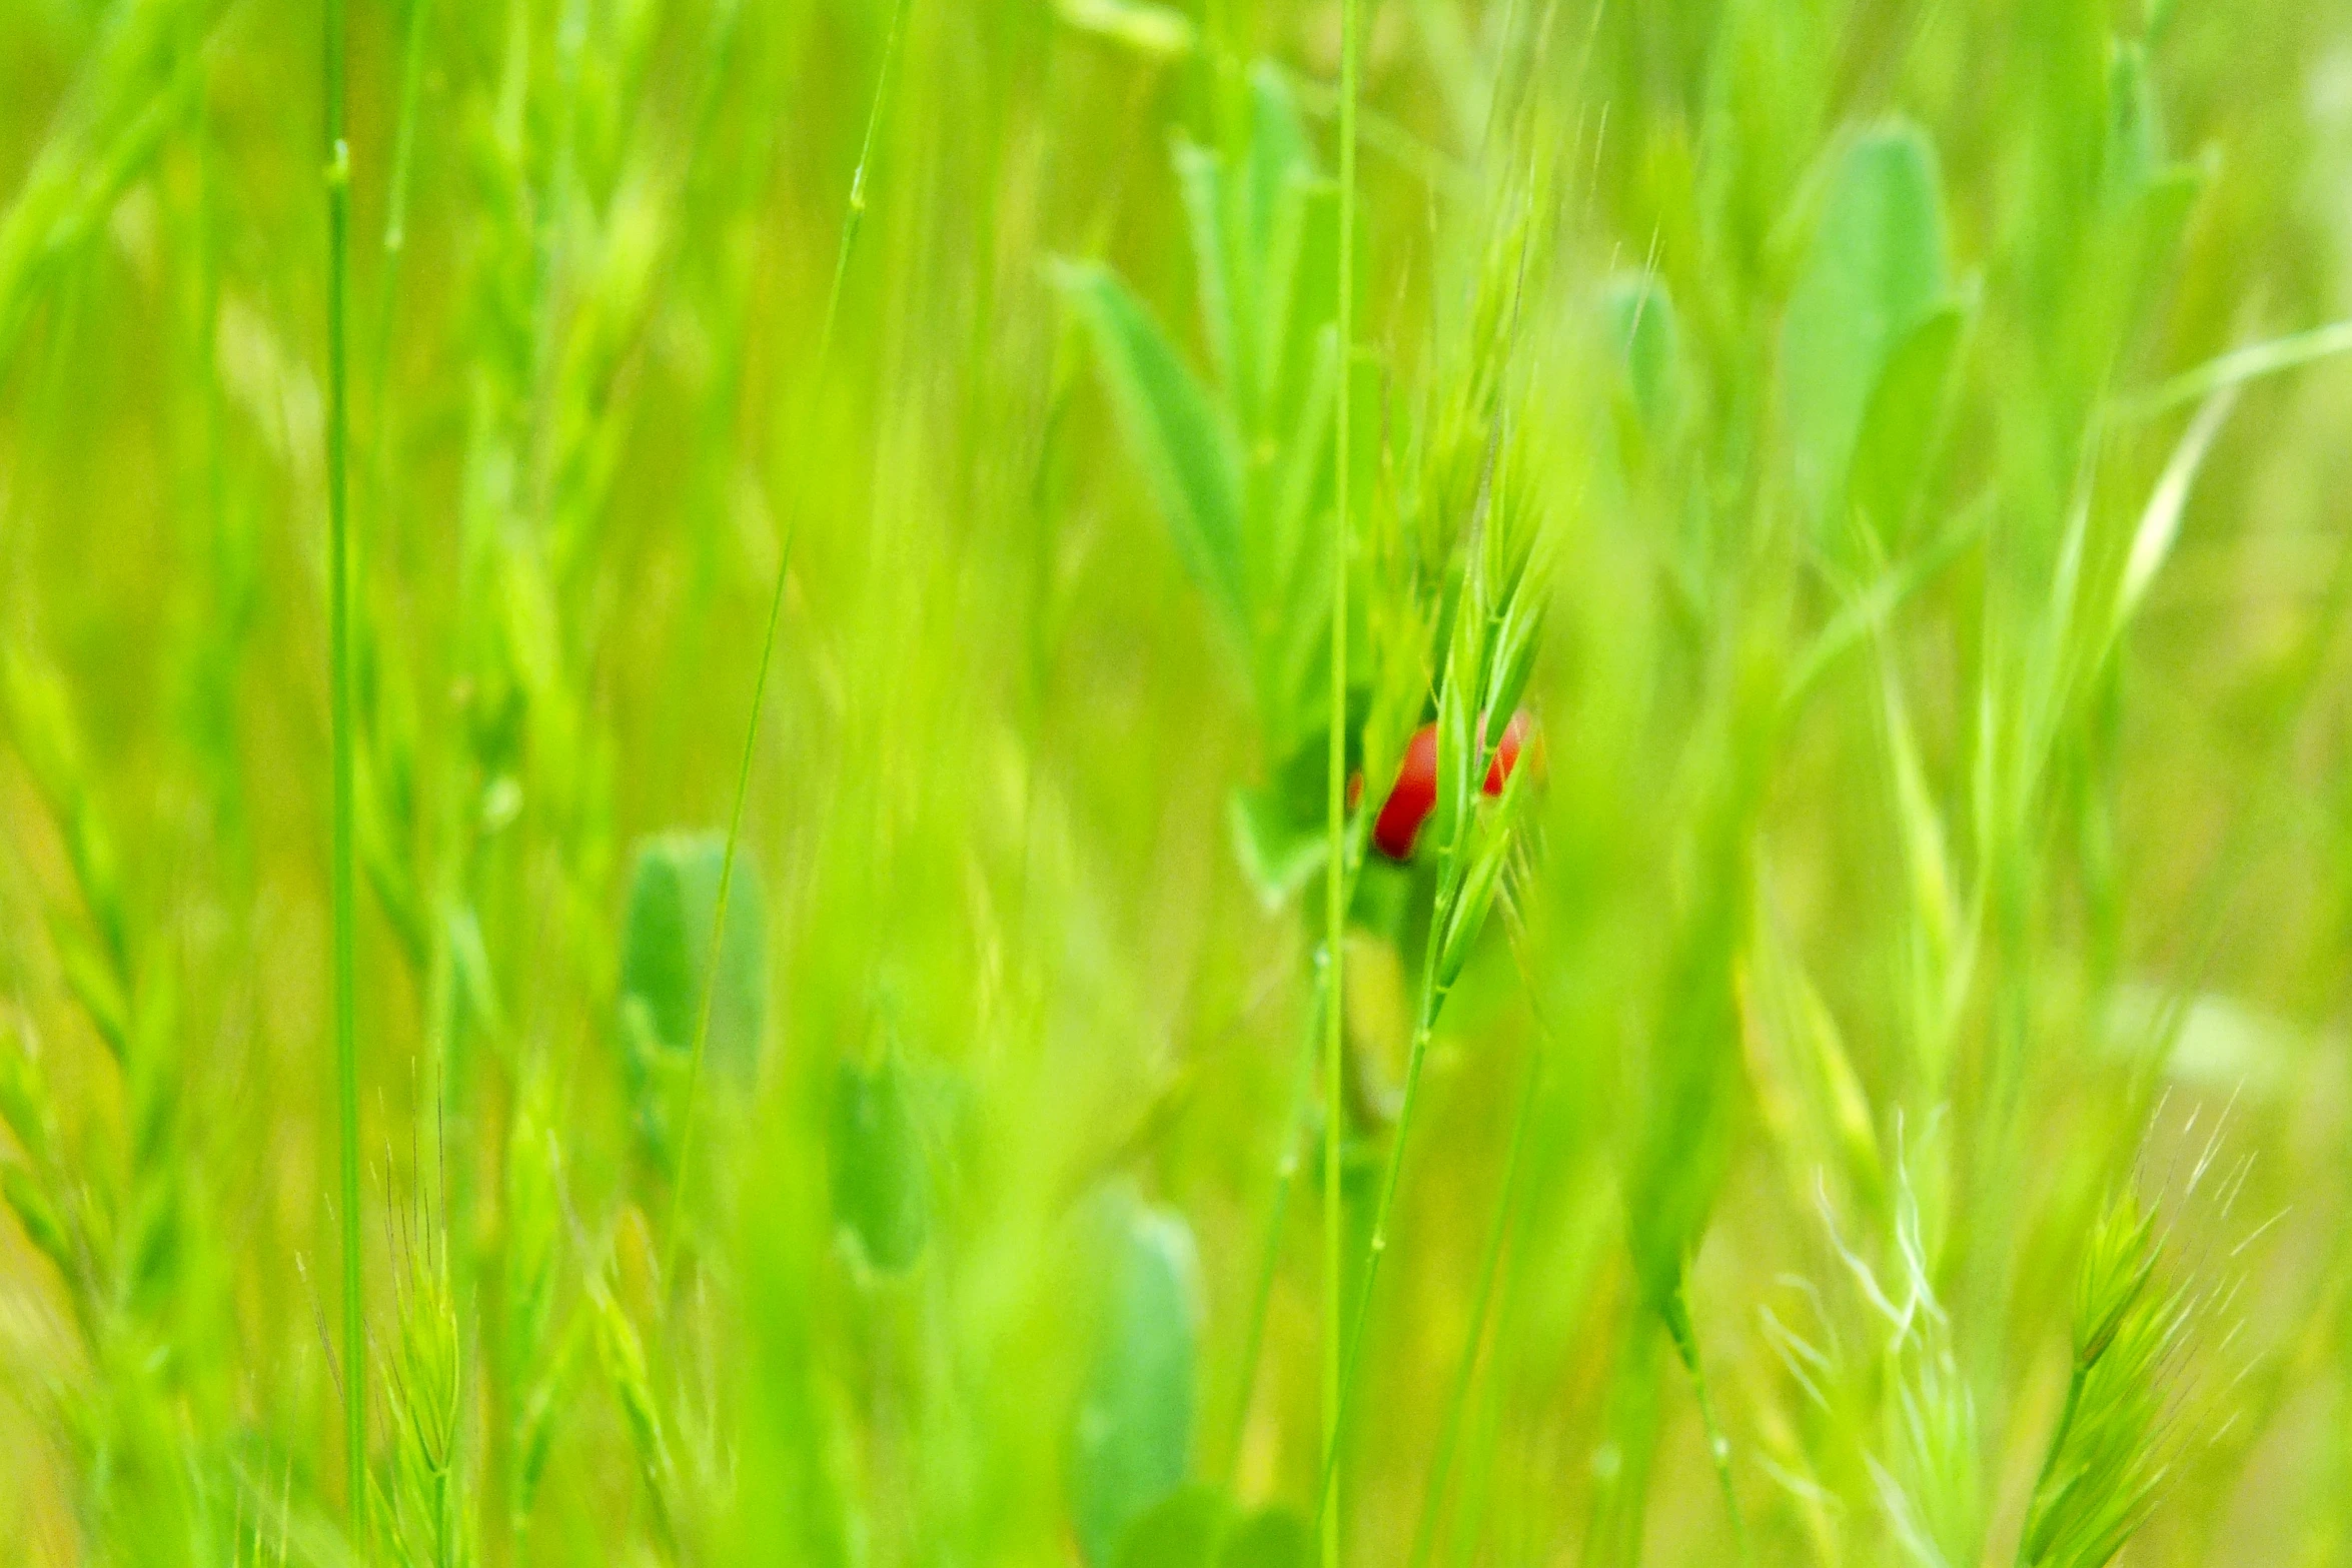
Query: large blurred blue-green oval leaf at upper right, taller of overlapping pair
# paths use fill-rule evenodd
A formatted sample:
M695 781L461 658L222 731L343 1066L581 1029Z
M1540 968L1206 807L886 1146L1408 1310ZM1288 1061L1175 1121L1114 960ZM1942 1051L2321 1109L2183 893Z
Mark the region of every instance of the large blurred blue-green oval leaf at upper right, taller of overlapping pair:
M1856 136L1830 172L1788 301L1780 378L1797 482L1832 508L1889 357L1945 296L1936 155L1910 125Z

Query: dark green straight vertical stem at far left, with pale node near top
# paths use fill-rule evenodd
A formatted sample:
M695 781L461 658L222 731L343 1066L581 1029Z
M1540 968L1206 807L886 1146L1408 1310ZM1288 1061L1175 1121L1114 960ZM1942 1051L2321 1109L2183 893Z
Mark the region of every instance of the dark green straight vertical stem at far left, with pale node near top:
M334 1086L343 1194L343 1483L353 1544L367 1528L367 1340L360 1321L360 1041L353 959L350 508L343 287L350 146L343 141L343 0L327 0L327 708L334 752Z

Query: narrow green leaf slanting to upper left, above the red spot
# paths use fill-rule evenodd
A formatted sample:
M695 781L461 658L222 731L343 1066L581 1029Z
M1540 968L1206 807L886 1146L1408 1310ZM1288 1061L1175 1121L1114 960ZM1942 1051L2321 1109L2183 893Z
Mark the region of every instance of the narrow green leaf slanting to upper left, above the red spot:
M1242 465L1232 430L1160 324L1108 268L1061 261L1054 282L1094 339L1103 388L1176 552L1247 651Z

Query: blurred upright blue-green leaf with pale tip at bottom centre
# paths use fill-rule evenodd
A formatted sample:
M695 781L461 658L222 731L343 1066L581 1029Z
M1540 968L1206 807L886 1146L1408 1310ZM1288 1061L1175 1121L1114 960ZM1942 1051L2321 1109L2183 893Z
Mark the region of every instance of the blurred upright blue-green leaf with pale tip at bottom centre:
M1200 1286L1178 1215L1112 1190L1098 1222L1103 1316L1073 1434L1070 1507L1087 1561L1110 1568L1127 1528L1174 1495L1192 1462Z

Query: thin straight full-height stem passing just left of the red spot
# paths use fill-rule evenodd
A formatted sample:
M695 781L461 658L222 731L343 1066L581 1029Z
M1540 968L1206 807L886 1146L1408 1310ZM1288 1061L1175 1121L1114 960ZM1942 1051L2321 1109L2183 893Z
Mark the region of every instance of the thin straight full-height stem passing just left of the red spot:
M1338 85L1338 435L1331 442L1334 508L1331 508L1331 766L1327 799L1327 865L1324 865L1324 964L1329 966L1324 987L1324 1493L1338 1479L1341 1403L1345 1401L1345 1363L1341 1356L1341 1319L1345 1295L1345 1244L1341 1222L1341 1135L1348 1119L1345 1105L1345 1037L1348 1037L1348 985L1345 985L1345 886L1348 886L1348 538L1350 498L1348 477L1355 465L1355 416L1350 390L1355 386L1355 110L1362 94L1359 71L1362 47L1357 14L1362 0L1341 0L1341 85ZM1341 1512L1322 1509L1322 1563L1338 1568L1341 1559Z

